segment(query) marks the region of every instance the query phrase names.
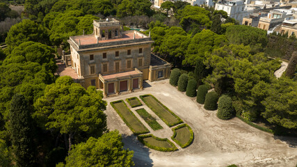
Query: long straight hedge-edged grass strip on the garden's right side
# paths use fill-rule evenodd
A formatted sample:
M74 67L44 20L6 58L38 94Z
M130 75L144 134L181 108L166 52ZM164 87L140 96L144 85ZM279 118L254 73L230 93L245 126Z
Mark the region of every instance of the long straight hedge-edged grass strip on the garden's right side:
M145 104L169 127L182 123L180 118L172 113L166 106L161 104L161 102L158 102L152 95L143 95L141 96L141 100L143 100L143 102L145 102Z

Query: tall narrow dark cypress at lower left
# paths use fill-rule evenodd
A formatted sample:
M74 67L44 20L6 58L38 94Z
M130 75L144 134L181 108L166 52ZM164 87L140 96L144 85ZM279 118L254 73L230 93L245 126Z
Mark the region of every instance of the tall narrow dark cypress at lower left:
M34 130L30 106L23 95L11 100L9 131L17 166L33 166L35 163Z

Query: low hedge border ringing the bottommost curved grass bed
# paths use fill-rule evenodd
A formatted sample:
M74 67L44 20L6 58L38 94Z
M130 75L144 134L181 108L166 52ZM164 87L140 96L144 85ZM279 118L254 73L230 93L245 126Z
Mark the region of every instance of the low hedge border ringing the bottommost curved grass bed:
M148 138L148 137L152 137L152 138L156 139L157 141L167 141L172 146L172 148L160 148L160 147L157 147L154 145L150 145L150 143L143 141L144 138ZM138 141L143 143L143 145L146 145L147 148L152 148L154 150L158 150L161 152L172 152L172 151L177 150L177 147L171 141L169 141L168 138L159 138L152 134L145 134L145 135L137 136L137 139L138 139Z

